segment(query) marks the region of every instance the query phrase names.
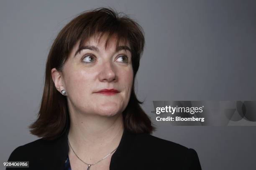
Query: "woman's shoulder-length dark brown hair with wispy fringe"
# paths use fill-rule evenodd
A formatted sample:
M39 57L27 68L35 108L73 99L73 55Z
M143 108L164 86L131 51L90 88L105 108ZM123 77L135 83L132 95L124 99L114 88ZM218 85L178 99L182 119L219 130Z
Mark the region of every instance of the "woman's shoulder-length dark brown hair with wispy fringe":
M143 111L134 91L134 80L140 65L141 55L145 44L143 29L138 23L123 13L117 13L111 8L97 8L80 13L71 20L54 40L46 62L44 92L38 118L29 128L33 135L52 140L62 135L69 128L69 111L66 96L56 90L51 77L51 69L61 71L72 48L79 41L83 42L90 37L105 34L108 41L113 35L117 36L117 47L120 41L129 42L132 53L133 85L131 97L123 111L124 128L131 133L152 133L155 127L151 124L148 115ZM100 40L100 39L99 39Z

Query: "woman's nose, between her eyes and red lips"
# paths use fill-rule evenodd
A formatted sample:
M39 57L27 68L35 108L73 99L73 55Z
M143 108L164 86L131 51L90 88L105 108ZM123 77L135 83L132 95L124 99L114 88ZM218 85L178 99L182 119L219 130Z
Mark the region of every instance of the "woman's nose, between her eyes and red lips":
M102 64L102 69L99 74L99 79L102 82L104 81L111 82L117 79L115 68L111 62L106 61Z

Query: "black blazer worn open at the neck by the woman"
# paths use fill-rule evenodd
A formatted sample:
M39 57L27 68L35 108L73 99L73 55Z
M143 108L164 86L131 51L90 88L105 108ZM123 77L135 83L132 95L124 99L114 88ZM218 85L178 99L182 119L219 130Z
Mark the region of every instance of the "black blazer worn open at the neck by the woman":
M6 170L64 170L69 151L67 134L66 131L55 140L41 138L19 146L8 161L29 161L29 168ZM201 166L193 149L149 134L133 134L124 130L111 157L110 170L201 170Z

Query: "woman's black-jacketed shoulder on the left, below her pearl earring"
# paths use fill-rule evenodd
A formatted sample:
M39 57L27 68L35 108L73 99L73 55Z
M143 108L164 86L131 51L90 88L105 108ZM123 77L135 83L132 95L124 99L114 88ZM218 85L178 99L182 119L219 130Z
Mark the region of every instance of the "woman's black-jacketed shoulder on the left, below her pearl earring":
M54 140L40 138L20 145L10 154L8 161L29 161L29 169L59 169L67 158L66 135ZM47 163L47 164L46 164Z

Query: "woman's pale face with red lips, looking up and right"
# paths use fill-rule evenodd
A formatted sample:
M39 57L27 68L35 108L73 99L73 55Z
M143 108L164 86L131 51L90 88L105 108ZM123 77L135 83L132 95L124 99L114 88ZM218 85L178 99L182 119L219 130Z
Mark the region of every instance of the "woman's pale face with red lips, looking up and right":
M129 45L120 44L116 51L116 39L112 38L105 49L106 37L97 43L91 38L77 52L73 48L61 72L61 82L67 92L69 108L80 114L112 116L123 112L128 105L133 83L133 68ZM116 93L99 93L103 89L115 89Z

